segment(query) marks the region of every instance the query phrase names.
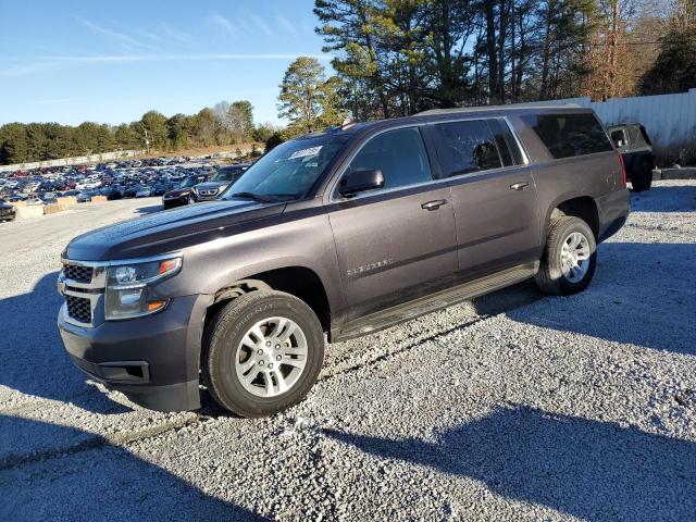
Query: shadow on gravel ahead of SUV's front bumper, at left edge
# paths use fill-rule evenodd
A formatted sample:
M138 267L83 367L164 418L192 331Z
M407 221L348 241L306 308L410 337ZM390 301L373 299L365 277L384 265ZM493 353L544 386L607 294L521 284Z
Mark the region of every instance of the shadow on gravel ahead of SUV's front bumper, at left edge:
M130 411L87 384L61 341L55 325L63 298L55 291L58 272L41 277L28 294L0 299L3 319L0 384L27 395L72 402L96 413Z

